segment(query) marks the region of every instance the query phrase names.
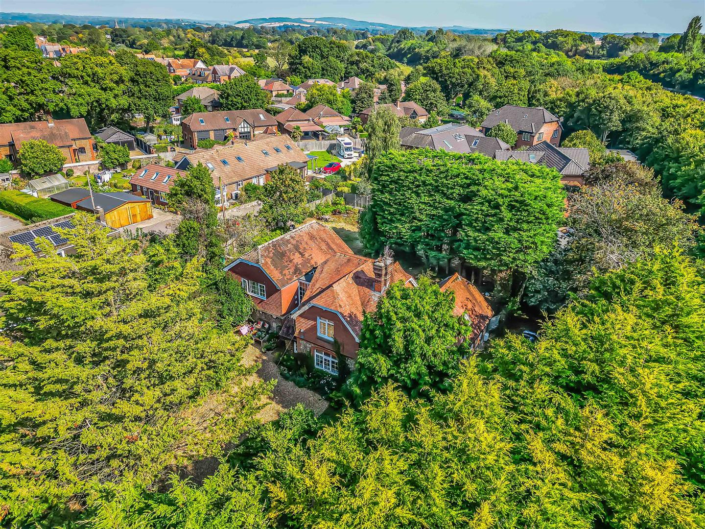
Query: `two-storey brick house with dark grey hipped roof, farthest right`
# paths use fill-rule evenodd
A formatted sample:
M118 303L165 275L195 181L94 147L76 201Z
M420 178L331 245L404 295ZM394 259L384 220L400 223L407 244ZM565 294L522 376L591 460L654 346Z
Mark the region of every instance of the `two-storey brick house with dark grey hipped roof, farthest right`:
M560 119L553 116L544 107L517 107L505 104L491 111L479 127L480 132L487 135L489 130L498 123L507 123L517 133L517 142L513 148L530 147L542 141L558 147L563 126Z

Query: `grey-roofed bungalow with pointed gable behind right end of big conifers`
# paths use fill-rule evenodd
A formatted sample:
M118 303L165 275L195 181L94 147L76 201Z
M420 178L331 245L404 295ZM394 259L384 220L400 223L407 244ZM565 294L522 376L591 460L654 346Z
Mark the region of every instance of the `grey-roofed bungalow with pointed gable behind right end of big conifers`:
M581 147L555 147L542 141L523 151L504 150L495 153L498 160L520 160L556 169L560 181L566 186L582 186L584 174L590 169L590 154Z

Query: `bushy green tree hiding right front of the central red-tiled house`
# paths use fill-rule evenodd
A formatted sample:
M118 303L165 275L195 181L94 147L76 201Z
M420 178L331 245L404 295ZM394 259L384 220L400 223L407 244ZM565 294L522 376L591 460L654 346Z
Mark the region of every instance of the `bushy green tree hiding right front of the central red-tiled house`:
M401 281L389 286L362 322L356 370L348 383L357 399L389 381L412 397L447 389L467 354L458 340L471 332L453 310L453 293L441 292L427 276L416 288Z

